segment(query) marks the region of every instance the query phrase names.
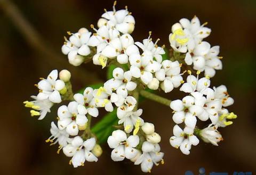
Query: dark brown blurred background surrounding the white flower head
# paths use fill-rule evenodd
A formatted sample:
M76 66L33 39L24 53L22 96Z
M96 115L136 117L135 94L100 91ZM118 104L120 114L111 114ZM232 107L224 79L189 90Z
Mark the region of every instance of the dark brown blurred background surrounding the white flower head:
M32 118L22 102L36 94L34 84L54 68L71 71L74 91L106 80L105 70L91 63L75 68L61 54L63 35L81 27L97 25L103 9L111 10L113 1L99 0L0 0L0 75L1 75L1 159L0 174L142 174L140 166L130 162L113 162L111 150L103 145L97 163L86 162L74 169L69 158L57 154L57 146L49 146L50 122L56 110L43 121ZM173 23L197 15L212 29L206 38L212 46L220 45L223 70L212 79L212 86L225 84L235 104L229 107L238 115L234 124L221 128L225 140L220 146L203 141L191 149L189 156L169 144L172 136L172 114L168 107L147 101L140 104L143 118L155 123L162 136L165 164L154 166L154 174L198 174L204 167L211 171L252 171L255 173L255 27L256 1L118 1L117 9L127 5L135 17L132 34L140 41L153 31L153 38L169 46L168 35ZM25 18L29 23L27 23ZM31 26L33 28L31 28ZM159 43L159 44L160 44ZM168 95L176 99L185 94ZM100 116L99 116L100 118Z

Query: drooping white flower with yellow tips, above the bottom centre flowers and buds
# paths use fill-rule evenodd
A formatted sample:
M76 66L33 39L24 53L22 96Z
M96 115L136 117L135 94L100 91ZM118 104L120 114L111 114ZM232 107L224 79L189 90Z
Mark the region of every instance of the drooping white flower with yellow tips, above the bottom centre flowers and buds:
M124 130L125 132L129 133L133 130L133 126L136 126L136 123L140 123L139 126L143 126L144 121L142 118L140 118L140 115L142 114L142 109L139 109L137 111L129 111L126 112L124 116L119 116L117 115L118 119L118 124L124 123Z

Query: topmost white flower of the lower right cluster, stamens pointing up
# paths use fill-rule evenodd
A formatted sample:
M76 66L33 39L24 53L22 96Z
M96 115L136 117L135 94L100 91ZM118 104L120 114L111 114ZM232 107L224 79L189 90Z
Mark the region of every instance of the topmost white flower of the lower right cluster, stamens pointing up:
M189 76L187 77L187 82L183 84L180 88L180 91L183 91L185 93L192 93L193 91L199 91L203 93L204 95L207 95L209 93L209 89L207 89L211 81L209 77L203 77L198 80L198 74L200 71L197 71L197 77L191 75L191 72L189 72Z

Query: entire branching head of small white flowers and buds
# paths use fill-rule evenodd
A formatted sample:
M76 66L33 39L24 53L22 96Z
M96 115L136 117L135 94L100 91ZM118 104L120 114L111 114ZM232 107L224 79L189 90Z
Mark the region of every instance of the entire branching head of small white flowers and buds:
M191 21L181 19L172 26L169 36L174 52L172 59L164 60L165 46L157 45L159 39L154 43L151 32L141 43L134 42L131 36L135 25L133 16L127 7L116 11L115 5L116 2L113 11L105 10L102 14L98 29L91 25L93 32L85 28L74 34L68 32L70 37L65 37L61 48L62 53L68 55L69 63L75 66L90 60L102 69L115 65L113 78L100 88L87 87L83 93L73 94L70 72L62 70L58 79L58 71L53 70L47 79L36 85L39 94L31 96L35 101L24 102L26 107L33 109L31 115L40 115L38 119L41 120L54 103L71 101L59 107L57 126L51 123L52 135L46 142L58 143L58 153L62 149L66 156L72 157L70 164L75 168L84 165L85 161L97 162L102 150L97 144L97 136L90 130L91 117L96 118L99 109L113 112L116 108L118 126L115 127L118 129L107 139L113 149L111 159L123 161L126 158L135 165L140 164L143 172L150 172L154 164L164 163L164 153L159 146L161 136L155 132L154 124L142 119L142 109L138 109L139 96L144 89L162 89L169 93L182 85L180 91L188 93L187 96L182 100L171 102L165 99L162 102L170 105L176 123L170 144L180 148L183 154L189 154L191 146L199 143L197 137L218 145L222 140L218 127L232 124L229 119L237 116L225 109L234 103L226 86L210 88L210 78L215 75L215 70L222 69L219 46L211 47L203 41L211 29L205 27L206 23L201 25L196 16ZM186 69L194 69L196 76L192 73L194 70L185 70L182 64L187 64ZM201 71L205 76L199 78ZM186 82L183 80L185 72L188 73ZM163 97L151 99L161 101ZM210 121L210 124L201 130L196 126L198 121Z

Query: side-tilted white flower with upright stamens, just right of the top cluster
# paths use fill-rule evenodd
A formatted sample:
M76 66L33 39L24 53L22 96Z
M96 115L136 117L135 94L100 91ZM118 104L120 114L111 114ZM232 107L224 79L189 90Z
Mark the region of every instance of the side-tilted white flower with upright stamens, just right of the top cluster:
M158 63L162 62L162 55L165 54L164 49L162 47L157 46L157 42L160 40L159 38L153 43L152 38L150 38L151 32L149 32L149 37L147 39L143 39L143 44L140 42L135 42L135 45L139 46L143 55L149 55L156 59Z

